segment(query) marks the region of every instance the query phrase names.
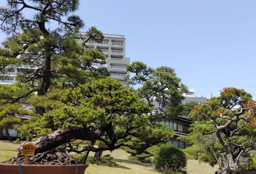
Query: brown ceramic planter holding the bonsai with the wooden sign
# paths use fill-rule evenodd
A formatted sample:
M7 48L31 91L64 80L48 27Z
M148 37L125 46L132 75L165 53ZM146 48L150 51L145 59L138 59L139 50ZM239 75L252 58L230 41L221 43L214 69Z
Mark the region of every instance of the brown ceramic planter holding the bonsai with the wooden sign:
M84 174L89 164L78 165L76 174ZM22 165L23 174L75 174L76 165ZM20 174L18 164L0 163L1 174Z

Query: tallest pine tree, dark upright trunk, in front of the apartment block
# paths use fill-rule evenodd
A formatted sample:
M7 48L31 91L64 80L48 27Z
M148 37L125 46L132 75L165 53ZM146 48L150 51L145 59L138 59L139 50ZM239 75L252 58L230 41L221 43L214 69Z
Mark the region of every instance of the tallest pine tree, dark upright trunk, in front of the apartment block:
M10 35L0 49L0 75L7 76L10 66L18 67L16 80L31 89L12 103L33 92L44 96L51 85L77 86L98 74L108 76L106 69L94 69L91 65L93 61L105 63L100 50L84 50L88 40L101 42L103 34L91 27L81 45L74 41L84 27L80 17L73 15L78 7L79 0L8 0L7 6L0 8L1 30ZM32 11L33 15L24 11ZM45 108L36 106L36 111L42 115Z

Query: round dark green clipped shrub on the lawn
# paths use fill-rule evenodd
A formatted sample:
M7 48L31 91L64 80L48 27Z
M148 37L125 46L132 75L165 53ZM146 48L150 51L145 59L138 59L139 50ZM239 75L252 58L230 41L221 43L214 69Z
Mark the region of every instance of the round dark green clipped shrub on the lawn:
M175 146L161 146L154 155L153 163L156 169L171 169L180 171L187 166L187 158L184 152Z

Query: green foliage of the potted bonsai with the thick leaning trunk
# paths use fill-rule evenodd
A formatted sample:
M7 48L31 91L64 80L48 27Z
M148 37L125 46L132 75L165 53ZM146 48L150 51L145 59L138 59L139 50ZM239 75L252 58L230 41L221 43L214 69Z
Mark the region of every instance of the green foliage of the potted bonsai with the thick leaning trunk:
M31 140L69 127L88 128L90 131L98 125L111 125L109 129L113 130L112 135L115 134L117 148L139 148L144 152L155 143L170 140L174 134L167 125L152 124L147 115L151 108L132 88L124 88L112 78L63 90L59 101L51 96L54 95L48 93L39 100L44 103L47 99L46 102L50 103L46 114L37 115L33 121L16 127L22 138ZM111 138L113 136L109 134L108 139ZM140 154L138 151L136 155Z

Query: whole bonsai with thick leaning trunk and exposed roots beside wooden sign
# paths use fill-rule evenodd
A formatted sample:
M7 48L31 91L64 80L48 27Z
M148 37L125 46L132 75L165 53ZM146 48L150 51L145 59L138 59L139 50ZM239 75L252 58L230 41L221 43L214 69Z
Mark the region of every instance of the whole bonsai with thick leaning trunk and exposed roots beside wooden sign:
M132 88L124 88L112 78L98 79L66 90L60 100L52 104L52 110L19 128L22 136L38 137L32 141L39 148L35 156L30 157L31 162L57 160L68 164L72 163L72 158L66 152L88 154L91 151L113 151L122 146L145 151L157 143L169 141L173 131L167 125L152 124L148 116L150 111L151 108ZM49 125L57 131L49 133ZM74 140L91 143L76 149L70 143ZM105 146L94 147L96 140L104 142ZM62 151L56 149L65 143L67 146ZM18 157L21 157L21 148L18 149ZM57 151L63 155L56 156Z

